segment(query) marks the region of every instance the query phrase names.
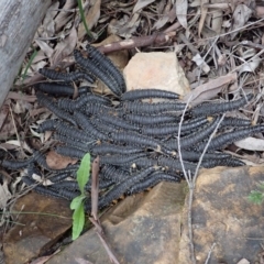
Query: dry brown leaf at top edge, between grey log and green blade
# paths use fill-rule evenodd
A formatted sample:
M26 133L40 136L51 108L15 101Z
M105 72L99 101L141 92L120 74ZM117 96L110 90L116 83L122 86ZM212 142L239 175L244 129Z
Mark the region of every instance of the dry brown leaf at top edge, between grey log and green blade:
M62 11L58 13L58 15L55 18L55 32L59 32L63 26L65 26L68 21L73 19L74 12L73 9L75 9L77 6L76 0L67 0L62 9Z

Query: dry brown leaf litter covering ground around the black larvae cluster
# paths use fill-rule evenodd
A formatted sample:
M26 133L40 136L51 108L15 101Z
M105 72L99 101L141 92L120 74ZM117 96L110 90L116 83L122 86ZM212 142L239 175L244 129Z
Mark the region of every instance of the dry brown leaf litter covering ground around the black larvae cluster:
M185 101L188 101L191 96L191 106L220 98L232 99L241 91L253 91L255 95L263 92L261 63L263 46L260 45L264 43L261 31L264 12L263 7L257 2L255 4L253 1L209 3L207 0L82 2L86 22L94 40L87 35L77 1L55 1L47 10L26 54L21 73L24 73L34 50L37 52L36 56L29 67L25 79L18 76L0 112L2 157L9 155L8 148L12 156L19 158L23 156L21 150L29 154L34 142L38 142L41 148L45 148L43 144L53 144L52 136L47 136L43 143L37 133L32 133L29 129L51 116L45 109L40 111L35 102L32 85L43 79L37 70L46 66L59 67L61 70L67 72L73 67L73 50L76 46L84 47L88 42L100 42L112 33L121 37L121 41L101 46L101 52L111 53L125 47L131 55L156 50L175 51L193 88L185 97ZM161 41L157 41L157 36L162 36ZM240 113L254 123L261 123L263 122L262 103L261 96L258 100L241 109ZM13 119L7 106L10 106ZM45 112L47 114L43 114ZM20 140L15 139L16 132ZM12 144L15 140L16 143ZM244 156L245 160L257 161L255 156L258 156L257 162L264 162L262 138L250 138L234 145L241 148L239 155ZM52 152L47 153L47 161L54 162L54 168L74 164L74 161L66 157L55 157ZM2 208L4 208L7 204L4 197L10 199L10 194L15 196L15 191L21 188L10 193L6 182L2 183L1 188L0 198L3 198Z

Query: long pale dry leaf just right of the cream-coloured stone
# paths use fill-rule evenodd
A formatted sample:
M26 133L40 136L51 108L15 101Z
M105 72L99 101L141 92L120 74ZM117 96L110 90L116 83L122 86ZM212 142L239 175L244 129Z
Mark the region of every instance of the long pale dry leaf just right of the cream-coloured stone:
M209 100L220 92L224 85L229 85L238 80L235 73L228 74L217 79L210 80L207 84L198 86L195 90L184 97L184 101L187 102L191 97L191 106L197 106L205 100Z

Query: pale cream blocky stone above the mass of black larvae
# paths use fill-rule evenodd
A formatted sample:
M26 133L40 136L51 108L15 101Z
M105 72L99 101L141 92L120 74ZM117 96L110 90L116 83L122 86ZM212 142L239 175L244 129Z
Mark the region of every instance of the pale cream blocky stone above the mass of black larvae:
M156 88L177 92L189 92L189 84L175 53L138 53L123 70L127 90Z

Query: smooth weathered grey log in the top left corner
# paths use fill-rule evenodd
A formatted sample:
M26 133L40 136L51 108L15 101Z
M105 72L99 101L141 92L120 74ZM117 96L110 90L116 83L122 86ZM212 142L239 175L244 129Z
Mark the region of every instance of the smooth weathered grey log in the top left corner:
M0 1L0 107L52 0Z

